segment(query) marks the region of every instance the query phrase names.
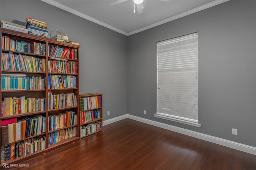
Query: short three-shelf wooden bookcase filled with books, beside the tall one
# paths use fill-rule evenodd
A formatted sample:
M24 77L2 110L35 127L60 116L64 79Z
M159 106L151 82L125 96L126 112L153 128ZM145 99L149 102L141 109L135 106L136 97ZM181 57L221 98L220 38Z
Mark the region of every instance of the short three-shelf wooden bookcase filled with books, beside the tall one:
M80 138L102 131L102 94L80 94Z

